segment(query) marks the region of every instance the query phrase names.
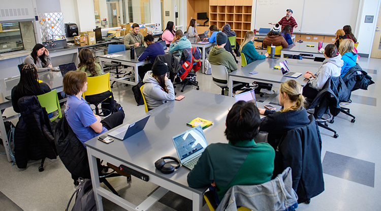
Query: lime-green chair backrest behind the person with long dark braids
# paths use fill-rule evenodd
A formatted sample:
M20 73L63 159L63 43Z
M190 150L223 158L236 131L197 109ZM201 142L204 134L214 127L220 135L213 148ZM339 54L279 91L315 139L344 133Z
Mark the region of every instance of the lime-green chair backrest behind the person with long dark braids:
M41 107L45 107L47 113L58 111L56 116L52 116L50 118L50 122L53 122L55 119L62 117L61 106L59 105L56 89L48 93L38 95L37 98L40 101Z

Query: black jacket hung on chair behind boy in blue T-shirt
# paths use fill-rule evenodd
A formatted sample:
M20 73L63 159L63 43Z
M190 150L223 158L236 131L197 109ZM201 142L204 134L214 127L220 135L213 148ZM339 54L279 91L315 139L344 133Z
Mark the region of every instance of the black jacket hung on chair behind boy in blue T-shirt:
M86 148L70 128L65 115L57 123L54 137L58 156L72 174L72 178L74 180L78 177L90 179Z

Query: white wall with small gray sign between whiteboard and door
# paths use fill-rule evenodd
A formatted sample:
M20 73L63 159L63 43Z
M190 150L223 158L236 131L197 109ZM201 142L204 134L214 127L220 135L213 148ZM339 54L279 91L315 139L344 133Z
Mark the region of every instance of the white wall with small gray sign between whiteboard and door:
M380 3L381 0L362 0L362 5L360 2L362 8L357 17L360 21L359 26L355 29L355 36L359 42L358 53L369 55L371 53ZM364 23L365 15L374 15L373 23ZM353 26L352 30L354 30Z

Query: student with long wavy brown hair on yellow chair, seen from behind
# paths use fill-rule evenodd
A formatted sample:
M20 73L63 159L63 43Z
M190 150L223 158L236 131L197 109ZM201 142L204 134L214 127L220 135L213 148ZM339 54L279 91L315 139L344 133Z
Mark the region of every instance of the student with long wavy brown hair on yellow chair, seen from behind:
M79 51L79 65L77 71L85 72L87 77L102 75L101 66L95 62L92 52L88 48Z

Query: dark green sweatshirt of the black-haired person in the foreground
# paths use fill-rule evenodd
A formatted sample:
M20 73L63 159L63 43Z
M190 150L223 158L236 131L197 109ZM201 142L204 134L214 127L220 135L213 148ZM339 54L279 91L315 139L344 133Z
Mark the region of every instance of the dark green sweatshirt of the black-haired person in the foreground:
M258 185L271 179L275 151L268 143L254 140L235 145L214 143L207 146L194 169L189 172L189 187L202 188L215 182L219 200L235 185Z

